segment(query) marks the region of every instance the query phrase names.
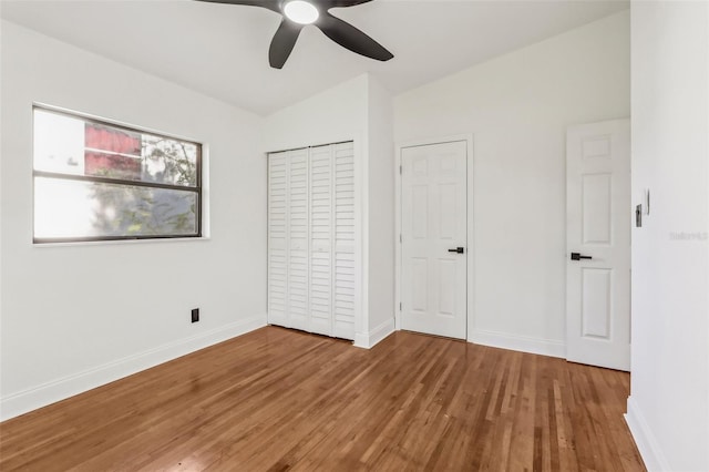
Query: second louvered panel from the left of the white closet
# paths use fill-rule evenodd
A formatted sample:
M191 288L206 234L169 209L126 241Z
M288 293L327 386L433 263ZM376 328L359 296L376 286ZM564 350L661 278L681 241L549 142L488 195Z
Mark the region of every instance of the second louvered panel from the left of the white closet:
M288 321L308 330L308 150L288 152Z

